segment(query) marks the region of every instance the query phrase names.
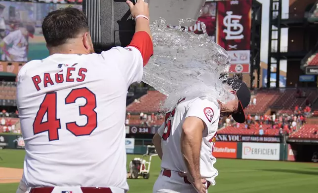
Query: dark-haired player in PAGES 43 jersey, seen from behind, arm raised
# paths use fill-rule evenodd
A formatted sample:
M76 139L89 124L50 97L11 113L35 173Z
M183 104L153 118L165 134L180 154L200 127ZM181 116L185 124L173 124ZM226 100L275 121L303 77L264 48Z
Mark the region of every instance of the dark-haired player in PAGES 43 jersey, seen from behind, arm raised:
M125 107L153 54L148 4L130 6L130 44L95 54L87 17L50 12L42 31L50 56L18 74L17 106L26 156L17 193L125 193Z

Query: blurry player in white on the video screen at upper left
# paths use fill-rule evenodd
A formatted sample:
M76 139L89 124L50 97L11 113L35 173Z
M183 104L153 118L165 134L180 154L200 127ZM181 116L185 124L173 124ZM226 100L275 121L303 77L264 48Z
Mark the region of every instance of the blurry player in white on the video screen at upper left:
M34 26L26 25L5 36L0 42L1 60L28 62L29 37L33 38L34 33Z

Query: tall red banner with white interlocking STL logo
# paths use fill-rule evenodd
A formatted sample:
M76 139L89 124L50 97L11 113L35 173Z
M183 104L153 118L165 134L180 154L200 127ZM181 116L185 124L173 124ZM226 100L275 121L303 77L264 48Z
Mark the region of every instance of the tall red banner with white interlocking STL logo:
M252 0L217 2L217 43L228 51L235 73L250 70L251 7Z

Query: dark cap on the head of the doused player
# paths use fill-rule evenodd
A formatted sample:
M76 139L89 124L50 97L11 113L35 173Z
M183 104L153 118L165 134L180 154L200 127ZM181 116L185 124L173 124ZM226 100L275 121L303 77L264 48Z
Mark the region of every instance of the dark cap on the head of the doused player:
M244 109L248 106L251 100L251 92L248 89L247 85L240 79L228 78L224 81L224 83L229 84L232 87L232 89L237 92L238 96L238 112L233 113L232 117L236 122L244 123Z

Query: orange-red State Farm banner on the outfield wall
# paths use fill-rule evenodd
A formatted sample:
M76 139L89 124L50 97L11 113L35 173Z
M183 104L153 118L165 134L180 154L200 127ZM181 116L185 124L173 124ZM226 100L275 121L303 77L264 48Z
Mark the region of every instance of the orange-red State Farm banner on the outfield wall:
M238 143L222 142L215 143L212 155L215 158L237 158Z

